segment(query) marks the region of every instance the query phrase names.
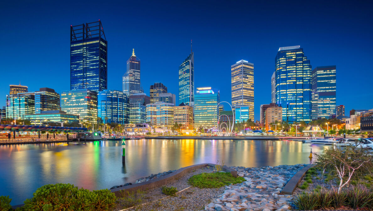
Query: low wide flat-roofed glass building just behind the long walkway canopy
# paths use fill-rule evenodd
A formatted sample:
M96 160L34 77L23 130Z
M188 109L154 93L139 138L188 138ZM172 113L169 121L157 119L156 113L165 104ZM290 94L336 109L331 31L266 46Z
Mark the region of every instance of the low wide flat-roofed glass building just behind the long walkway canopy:
M31 125L48 125L60 122L79 123L79 115L68 114L61 110L46 110L37 114L26 114L25 119L29 119Z

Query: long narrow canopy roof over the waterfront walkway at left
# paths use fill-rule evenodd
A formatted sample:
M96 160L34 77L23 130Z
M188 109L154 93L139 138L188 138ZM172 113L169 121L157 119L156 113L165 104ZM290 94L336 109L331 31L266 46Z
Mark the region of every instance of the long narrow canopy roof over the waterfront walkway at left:
M57 127L57 126L37 126L37 125L0 125L0 131L62 131L62 132L84 132L86 127Z

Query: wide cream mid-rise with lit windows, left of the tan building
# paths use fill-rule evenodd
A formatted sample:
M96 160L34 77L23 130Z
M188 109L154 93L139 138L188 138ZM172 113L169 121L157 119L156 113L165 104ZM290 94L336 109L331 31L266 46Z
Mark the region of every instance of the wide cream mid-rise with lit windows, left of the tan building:
M174 105L172 103L150 103L146 105L146 122L154 128L169 130L172 128Z

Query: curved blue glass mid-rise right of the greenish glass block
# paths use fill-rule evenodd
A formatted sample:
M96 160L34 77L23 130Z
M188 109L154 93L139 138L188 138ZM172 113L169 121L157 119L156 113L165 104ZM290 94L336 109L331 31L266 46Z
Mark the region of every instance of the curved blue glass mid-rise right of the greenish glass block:
M97 116L103 123L129 123L129 97L122 91L100 91L97 101Z

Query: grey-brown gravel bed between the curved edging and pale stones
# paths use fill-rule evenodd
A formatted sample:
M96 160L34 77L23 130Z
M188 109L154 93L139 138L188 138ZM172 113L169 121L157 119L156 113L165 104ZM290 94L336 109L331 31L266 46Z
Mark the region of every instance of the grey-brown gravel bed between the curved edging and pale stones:
M188 179L191 176L204 172L211 173L212 171L212 167L204 167L201 169L196 169L194 171L189 171L188 173L184 174L184 176L180 177L177 180L174 180L173 182L168 183L166 186L176 187L177 190L180 191L190 186L188 183ZM208 204L211 201L211 199L216 198L217 195L222 194L224 190L225 187L204 189L190 187L181 193L176 193L176 196L170 196L168 198L162 199L167 196L162 193L162 188L153 188L145 191L144 195L142 196L142 202L140 204L144 204L146 202L150 203L128 209L128 211L199 211L203 210L205 204ZM157 201L153 202L155 200ZM121 205L119 200L115 211L121 209L123 209L123 205Z

